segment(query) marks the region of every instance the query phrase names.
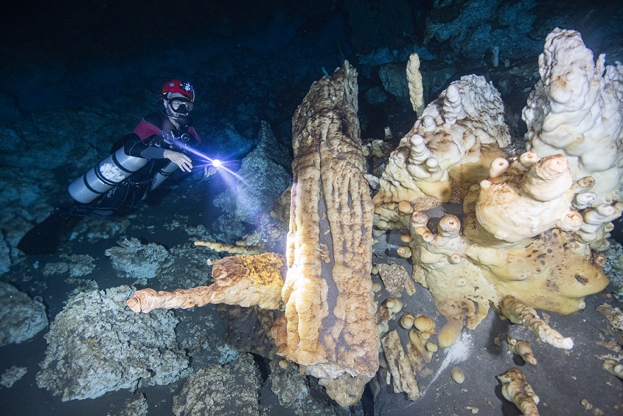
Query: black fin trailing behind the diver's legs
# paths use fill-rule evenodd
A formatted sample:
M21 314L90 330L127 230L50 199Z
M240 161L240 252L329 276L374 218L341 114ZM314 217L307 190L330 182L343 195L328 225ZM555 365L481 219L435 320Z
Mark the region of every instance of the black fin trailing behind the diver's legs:
M75 225L75 217L58 210L28 231L17 248L25 254L54 254L59 248L61 237L71 231L71 223Z

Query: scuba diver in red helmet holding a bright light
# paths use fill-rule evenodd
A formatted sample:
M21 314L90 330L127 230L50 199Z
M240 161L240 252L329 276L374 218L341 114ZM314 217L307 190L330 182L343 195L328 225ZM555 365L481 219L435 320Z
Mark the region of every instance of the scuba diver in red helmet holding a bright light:
M112 145L107 159L69 185L69 193L79 204L54 210L17 248L26 254L52 254L59 234L76 219L104 218L122 208L138 208L177 168L191 172L193 157L205 153L197 151L203 145L189 117L194 89L190 83L170 80L162 85L160 98L163 111L145 115L130 134ZM216 171L210 164L201 175L209 177Z

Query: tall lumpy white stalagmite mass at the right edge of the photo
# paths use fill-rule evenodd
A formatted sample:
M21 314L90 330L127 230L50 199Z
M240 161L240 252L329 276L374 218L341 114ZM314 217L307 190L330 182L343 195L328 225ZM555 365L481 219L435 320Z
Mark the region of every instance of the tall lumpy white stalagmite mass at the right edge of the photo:
M554 29L538 57L541 80L522 112L528 148L545 157L562 153L576 189L574 203L587 208L576 238L607 248L612 222L623 209L623 66L606 65L577 31Z

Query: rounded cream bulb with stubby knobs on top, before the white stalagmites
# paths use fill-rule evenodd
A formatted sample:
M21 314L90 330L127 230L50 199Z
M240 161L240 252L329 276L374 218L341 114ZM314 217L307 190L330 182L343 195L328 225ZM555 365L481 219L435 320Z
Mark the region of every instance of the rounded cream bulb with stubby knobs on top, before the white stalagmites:
M576 231L579 213L569 208L573 198L571 170L563 155L543 159L532 152L509 163L496 159L489 178L472 187L463 210L474 213L467 238L483 245L518 243L557 227ZM476 201L475 206L471 201Z

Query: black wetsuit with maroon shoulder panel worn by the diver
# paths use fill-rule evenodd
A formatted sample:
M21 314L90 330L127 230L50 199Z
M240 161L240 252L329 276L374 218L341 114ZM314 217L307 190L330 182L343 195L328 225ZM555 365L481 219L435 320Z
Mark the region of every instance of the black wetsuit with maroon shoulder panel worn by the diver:
M154 111L142 118L130 134L112 145L111 153L123 147L126 155L148 159L147 164L126 180L112 187L100 199L88 205L72 206L70 215L108 217L119 208L138 208L152 188L156 173L171 162L164 157L165 150L183 152L193 158L188 148L198 148L201 140L190 126L176 128L169 117L161 111Z

